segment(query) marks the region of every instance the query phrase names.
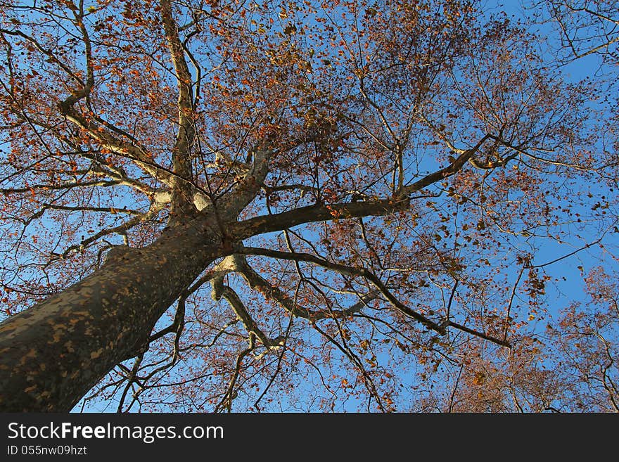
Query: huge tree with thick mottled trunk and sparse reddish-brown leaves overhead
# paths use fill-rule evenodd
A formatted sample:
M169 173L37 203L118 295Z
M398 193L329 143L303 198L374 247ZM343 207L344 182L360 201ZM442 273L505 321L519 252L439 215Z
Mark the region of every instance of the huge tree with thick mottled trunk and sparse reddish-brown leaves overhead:
M468 377L466 352L535 344L549 269L613 255L606 87L566 79L504 13L0 15L4 411L90 390L119 411L412 409Z

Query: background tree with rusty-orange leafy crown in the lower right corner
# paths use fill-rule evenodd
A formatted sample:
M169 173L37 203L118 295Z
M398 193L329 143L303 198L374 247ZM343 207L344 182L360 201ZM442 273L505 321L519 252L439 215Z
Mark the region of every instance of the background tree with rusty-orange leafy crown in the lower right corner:
M420 399L419 410L619 412L619 291L601 267L585 280L588 300L566 307L536 338L509 352L479 342L461 349L449 386Z

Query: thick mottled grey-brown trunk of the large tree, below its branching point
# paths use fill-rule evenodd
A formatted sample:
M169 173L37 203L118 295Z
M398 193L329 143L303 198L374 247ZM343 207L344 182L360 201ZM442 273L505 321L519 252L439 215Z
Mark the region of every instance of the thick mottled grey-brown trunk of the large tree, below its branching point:
M226 247L212 215L115 252L62 293L0 324L0 411L60 411L148 345L156 321Z

